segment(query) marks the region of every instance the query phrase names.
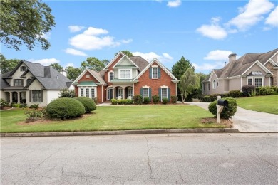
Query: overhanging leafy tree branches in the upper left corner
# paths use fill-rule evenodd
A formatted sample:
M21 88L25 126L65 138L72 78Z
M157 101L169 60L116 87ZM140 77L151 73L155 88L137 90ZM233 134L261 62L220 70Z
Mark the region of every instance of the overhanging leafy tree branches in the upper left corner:
M51 47L45 35L55 26L51 9L41 0L1 0L0 41L8 48L19 50L24 44L32 50L37 43L43 50Z

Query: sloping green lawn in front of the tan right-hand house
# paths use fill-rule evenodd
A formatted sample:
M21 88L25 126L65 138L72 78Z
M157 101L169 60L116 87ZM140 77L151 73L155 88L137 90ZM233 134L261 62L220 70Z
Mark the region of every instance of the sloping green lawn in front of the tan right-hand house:
M237 99L237 105L247 110L278 115L278 95L241 97Z

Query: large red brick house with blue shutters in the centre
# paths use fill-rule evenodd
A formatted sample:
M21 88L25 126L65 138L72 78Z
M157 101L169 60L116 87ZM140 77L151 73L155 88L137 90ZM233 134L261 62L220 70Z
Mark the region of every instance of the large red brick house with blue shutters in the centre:
M150 63L140 56L128 57L118 53L101 72L86 69L73 81L78 96L96 98L98 102L111 99L132 99L134 95L164 97L177 95L179 80L157 59Z

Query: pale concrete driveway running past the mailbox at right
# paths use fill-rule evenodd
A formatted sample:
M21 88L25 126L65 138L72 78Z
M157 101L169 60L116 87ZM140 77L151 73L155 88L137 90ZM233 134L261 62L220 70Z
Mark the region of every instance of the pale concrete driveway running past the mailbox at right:
M186 102L208 110L207 102ZM278 115L242 109L237 107L237 112L232 117L235 129L240 132L278 132Z

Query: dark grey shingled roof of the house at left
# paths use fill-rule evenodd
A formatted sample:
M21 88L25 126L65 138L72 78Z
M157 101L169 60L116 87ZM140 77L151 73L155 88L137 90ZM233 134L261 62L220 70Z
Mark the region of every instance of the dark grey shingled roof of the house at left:
M72 83L72 81L66 78L66 76L49 66L43 66L40 63L31 63L25 60L21 60L11 73L8 75L5 74L4 78L11 78L23 63L27 66L27 70L34 76L32 79L38 80L46 90L61 90L62 88L69 88ZM29 85L31 85L31 83L27 84L24 88L28 88Z

